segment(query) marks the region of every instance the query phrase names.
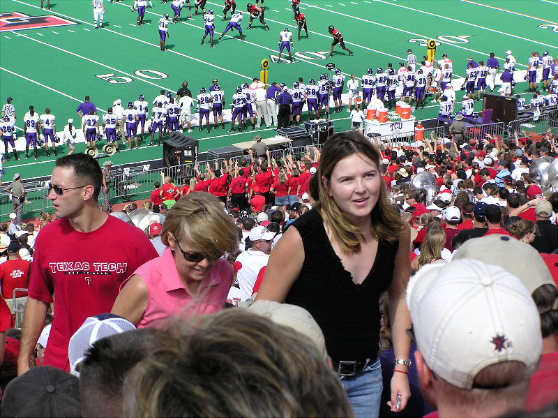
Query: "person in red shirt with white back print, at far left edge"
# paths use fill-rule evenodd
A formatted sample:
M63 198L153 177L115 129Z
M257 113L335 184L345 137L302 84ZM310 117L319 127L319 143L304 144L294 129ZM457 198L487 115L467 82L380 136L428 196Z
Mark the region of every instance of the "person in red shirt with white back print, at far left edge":
M10 242L8 246L8 260L0 264L0 285L4 299L13 299L13 290L27 289L29 287L29 273L31 263L20 258L20 244ZM19 292L16 298L26 297L27 292Z

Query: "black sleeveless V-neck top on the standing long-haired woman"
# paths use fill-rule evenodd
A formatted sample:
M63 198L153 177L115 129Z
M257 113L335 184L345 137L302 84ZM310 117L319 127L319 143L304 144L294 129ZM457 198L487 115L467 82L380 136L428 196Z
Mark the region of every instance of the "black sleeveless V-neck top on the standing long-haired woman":
M372 269L358 285L335 254L317 210L312 209L291 226L301 235L305 257L285 302L312 314L324 333L326 350L333 360L376 359L378 299L391 284L399 241L393 244L379 241Z

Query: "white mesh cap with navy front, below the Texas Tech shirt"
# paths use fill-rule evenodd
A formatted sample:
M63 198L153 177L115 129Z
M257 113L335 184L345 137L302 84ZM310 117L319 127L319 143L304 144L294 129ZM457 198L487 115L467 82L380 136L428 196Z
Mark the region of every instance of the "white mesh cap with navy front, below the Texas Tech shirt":
M134 324L114 313L101 313L100 315L90 316L80 328L75 331L70 343L68 343L68 359L70 360L70 373L80 377L77 366L85 359L89 348L93 343L121 332L136 329Z

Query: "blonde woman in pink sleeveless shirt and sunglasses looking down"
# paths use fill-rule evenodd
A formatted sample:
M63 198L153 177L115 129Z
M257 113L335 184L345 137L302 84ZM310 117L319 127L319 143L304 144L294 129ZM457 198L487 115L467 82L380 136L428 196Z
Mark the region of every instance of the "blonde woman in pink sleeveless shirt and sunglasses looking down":
M163 223L161 240L168 248L122 284L112 313L137 328L160 328L223 309L232 269L222 256L238 247L235 228L217 197L204 192L183 197Z

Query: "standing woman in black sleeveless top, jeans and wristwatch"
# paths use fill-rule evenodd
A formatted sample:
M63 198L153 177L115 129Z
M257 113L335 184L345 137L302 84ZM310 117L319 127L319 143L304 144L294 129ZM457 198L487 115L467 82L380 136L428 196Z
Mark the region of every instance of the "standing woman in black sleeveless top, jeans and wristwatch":
M257 299L286 301L312 314L356 417L379 412L378 299L385 290L399 360L391 380L391 410L405 408L410 396L409 228L386 198L379 160L379 151L358 133L336 134L326 142L310 180L315 204L273 248L257 294Z

